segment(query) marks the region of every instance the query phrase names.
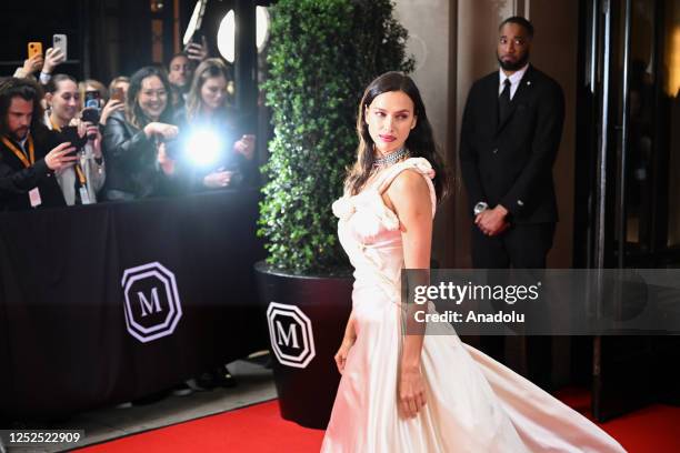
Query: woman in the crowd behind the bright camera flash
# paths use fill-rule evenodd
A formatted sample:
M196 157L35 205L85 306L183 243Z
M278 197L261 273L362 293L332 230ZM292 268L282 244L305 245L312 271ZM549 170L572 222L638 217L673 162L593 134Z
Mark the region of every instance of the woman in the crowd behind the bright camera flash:
M227 104L226 64L211 58L199 64L187 107L179 114L182 130L180 172L192 190L239 187L254 171L254 135L243 133ZM182 125L186 124L186 125Z

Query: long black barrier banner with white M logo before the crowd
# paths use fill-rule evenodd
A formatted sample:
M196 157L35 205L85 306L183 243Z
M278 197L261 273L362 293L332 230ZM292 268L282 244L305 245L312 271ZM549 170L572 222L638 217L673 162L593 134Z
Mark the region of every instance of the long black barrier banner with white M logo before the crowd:
M131 401L267 348L258 198L0 215L0 420Z

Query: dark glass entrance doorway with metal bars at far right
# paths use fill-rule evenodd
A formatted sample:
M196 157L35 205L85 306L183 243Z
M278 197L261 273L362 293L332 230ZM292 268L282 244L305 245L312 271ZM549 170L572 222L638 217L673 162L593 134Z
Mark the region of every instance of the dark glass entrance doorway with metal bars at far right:
M574 264L680 266L680 2L580 9ZM596 338L594 416L672 401L679 350L670 338Z

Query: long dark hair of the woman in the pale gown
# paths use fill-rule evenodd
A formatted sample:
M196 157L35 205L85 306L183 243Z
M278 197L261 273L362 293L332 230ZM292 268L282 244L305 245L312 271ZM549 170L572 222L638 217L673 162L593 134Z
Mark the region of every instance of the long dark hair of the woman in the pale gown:
M366 110L373 102L373 99L389 91L401 91L413 101L413 114L417 117L416 128L409 133L406 147L411 158L424 158L432 165L436 172L432 183L434 184L437 199L441 201L447 193L447 175L443 161L434 143L432 127L428 120L420 91L418 91L418 87L416 87L416 83L410 77L394 71L386 72L373 80L363 92L363 97L359 103L359 114L357 117L357 134L359 135L357 162L349 170L344 187L351 195L356 195L371 175L374 160L373 148L376 143L369 133L368 123L366 122Z

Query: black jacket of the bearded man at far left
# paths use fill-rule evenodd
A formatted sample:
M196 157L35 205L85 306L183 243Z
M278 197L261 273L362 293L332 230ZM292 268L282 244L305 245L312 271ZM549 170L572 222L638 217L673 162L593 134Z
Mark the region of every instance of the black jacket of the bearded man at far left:
M63 140L42 125L31 131L36 163L26 168L12 151L0 141L0 210L23 211L31 209L29 191L38 188L41 204L38 208L66 207L63 194L54 173L47 167L44 155ZM10 139L11 140L11 139ZM14 142L17 149L21 149Z

